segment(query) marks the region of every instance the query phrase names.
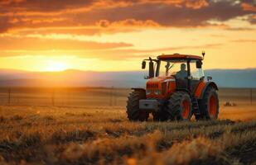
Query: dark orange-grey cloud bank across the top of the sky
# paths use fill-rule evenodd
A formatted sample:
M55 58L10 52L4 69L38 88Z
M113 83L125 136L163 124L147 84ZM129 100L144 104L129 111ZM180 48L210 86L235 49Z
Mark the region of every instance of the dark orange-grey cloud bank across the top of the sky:
M0 3L0 32L27 28L87 26L108 31L120 26L204 27L209 21L228 21L237 16L252 15L252 0L7 0ZM137 28L134 28L137 27ZM72 32L72 31L69 31ZM86 31L85 31L86 35Z

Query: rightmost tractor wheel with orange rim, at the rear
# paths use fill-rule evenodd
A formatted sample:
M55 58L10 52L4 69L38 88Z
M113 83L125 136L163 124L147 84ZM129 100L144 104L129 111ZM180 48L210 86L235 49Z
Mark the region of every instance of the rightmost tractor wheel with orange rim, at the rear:
M219 97L214 87L208 87L204 97L199 101L200 115L196 120L216 120L219 115Z

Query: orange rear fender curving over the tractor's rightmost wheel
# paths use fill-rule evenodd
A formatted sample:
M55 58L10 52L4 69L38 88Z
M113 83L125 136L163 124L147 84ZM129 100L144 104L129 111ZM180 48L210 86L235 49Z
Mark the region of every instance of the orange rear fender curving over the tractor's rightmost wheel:
M195 97L197 99L202 99L208 87L213 87L217 91L219 90L215 82L200 82L196 88Z

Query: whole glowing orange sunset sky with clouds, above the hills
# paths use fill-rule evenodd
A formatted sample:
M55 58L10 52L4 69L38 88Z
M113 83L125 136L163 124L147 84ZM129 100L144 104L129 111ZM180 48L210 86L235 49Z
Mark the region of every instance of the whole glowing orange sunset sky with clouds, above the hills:
M139 70L160 54L256 68L256 0L0 0L0 68Z

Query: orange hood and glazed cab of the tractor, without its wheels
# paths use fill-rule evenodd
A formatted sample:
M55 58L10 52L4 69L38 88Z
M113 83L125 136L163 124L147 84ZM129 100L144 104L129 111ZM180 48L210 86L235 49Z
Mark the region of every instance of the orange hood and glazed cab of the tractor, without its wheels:
M200 56L163 54L157 59L146 60L149 60L147 98L165 99L176 90L194 92L197 85L205 79L203 58ZM142 68L145 68L146 60L143 60Z

